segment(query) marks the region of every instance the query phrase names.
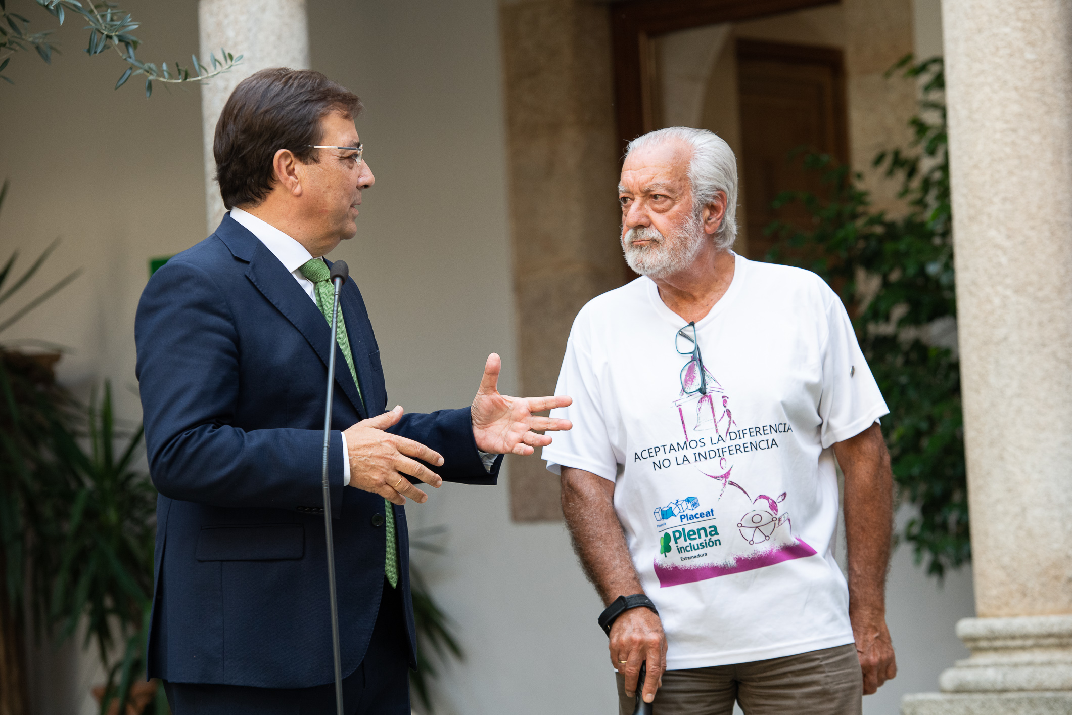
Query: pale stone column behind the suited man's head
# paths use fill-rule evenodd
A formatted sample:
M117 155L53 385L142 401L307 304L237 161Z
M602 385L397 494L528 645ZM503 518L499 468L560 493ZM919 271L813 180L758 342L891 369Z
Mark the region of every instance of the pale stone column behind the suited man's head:
M199 0L200 61L220 48L242 55L230 72L202 86L202 122L205 146L205 196L209 233L223 219L223 200L215 183L212 136L215 122L230 92L245 77L265 68L309 69L309 21L306 0Z

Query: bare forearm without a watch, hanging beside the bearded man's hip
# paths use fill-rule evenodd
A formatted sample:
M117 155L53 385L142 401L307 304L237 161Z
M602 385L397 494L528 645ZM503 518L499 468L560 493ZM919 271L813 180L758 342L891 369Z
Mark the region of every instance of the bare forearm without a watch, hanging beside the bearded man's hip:
M878 424L834 447L845 473L850 612L885 612L893 532L893 474Z

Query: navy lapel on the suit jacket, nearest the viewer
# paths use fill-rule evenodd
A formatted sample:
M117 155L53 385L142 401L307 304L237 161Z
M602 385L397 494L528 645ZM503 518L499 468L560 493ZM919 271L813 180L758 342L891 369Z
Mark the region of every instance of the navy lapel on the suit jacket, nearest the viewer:
M244 230L234 220L232 220L232 223ZM316 352L316 355L327 366L330 358L328 343L331 341L331 326L324 319L324 314L321 313L316 303L309 299L306 292L294 280L294 275L286 270L283 264L279 262L264 243L257 240L256 237L253 237L253 239L256 241L256 247L253 248L250 265L245 270L247 278L298 329L306 338L306 341L309 342L310 347ZM346 324L346 328L348 331L349 323ZM334 346L334 351L336 384L363 419L368 417L368 413L357 394L354 378L351 376L349 370L346 369L346 359L343 357L342 351L339 349L338 345ZM351 352L354 353L353 349ZM357 368L356 353L354 354L354 367ZM366 360L368 360L368 356L366 356Z

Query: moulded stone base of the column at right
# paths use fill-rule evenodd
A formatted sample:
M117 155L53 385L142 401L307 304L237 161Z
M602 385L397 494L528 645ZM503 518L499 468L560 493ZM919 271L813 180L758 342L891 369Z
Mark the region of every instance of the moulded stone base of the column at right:
M941 692L907 695L902 715L1072 713L1072 615L963 619L971 651L938 679Z

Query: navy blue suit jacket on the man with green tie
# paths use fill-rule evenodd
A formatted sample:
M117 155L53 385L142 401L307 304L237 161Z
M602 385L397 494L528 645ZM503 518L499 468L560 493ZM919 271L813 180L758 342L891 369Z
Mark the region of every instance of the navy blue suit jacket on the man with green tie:
M343 674L364 657L384 584L384 500L343 488L339 430L386 411L361 294L340 295L363 403L336 349L329 475ZM283 264L224 217L150 279L135 323L157 505L151 677L298 688L332 681L321 481L330 328ZM390 432L443 455L445 480L493 485L470 411L408 414ZM405 509L394 509L411 667ZM374 518L375 517L375 518ZM379 524L379 525L377 525Z

